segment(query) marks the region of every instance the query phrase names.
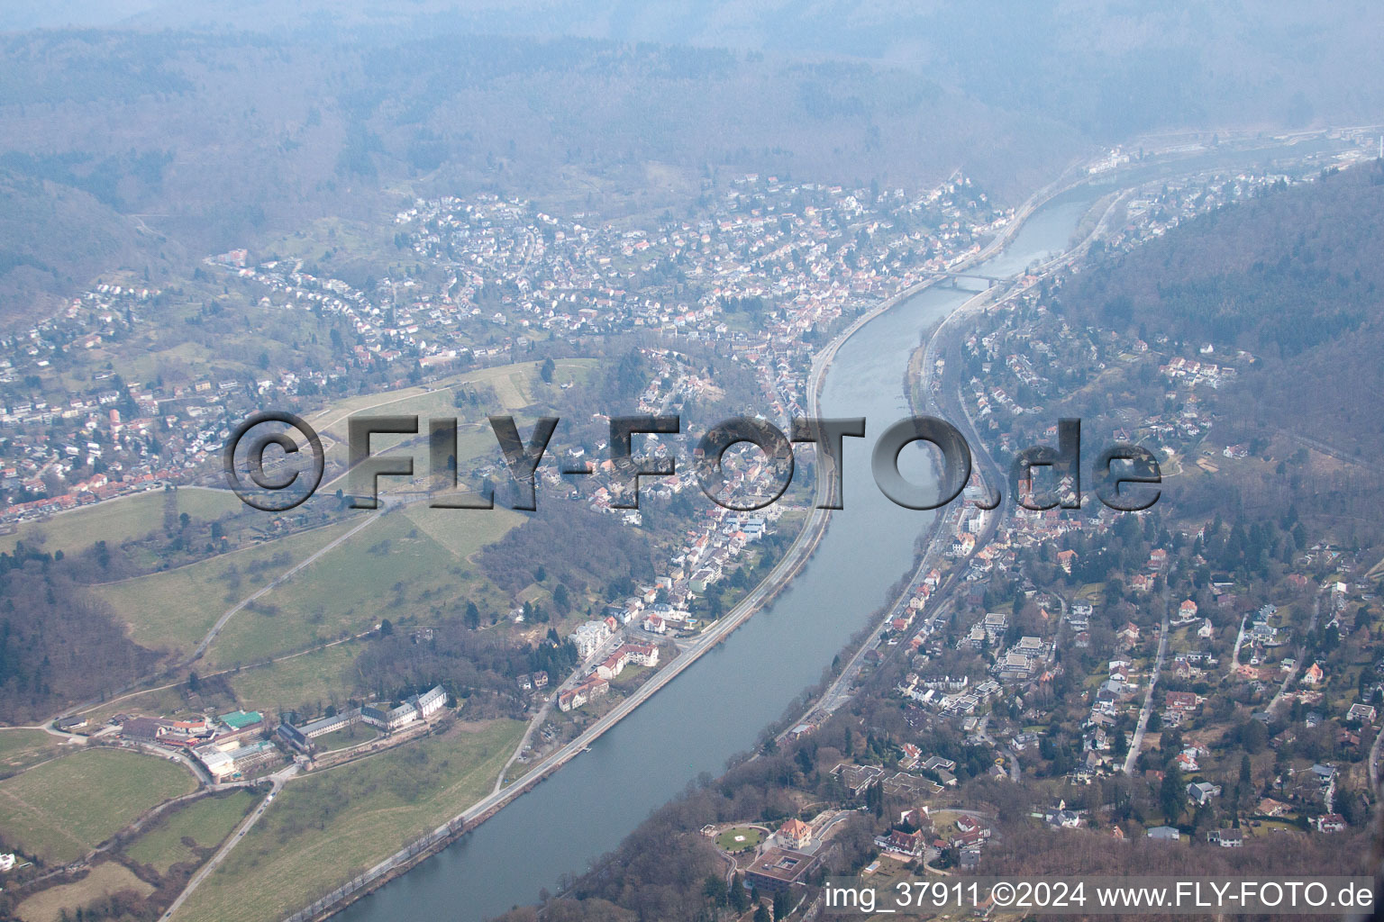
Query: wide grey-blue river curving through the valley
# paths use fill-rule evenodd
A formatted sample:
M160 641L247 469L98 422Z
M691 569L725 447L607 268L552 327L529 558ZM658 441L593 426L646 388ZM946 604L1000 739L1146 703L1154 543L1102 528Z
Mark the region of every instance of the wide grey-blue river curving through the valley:
M1192 158L1182 169L1221 166L1219 159ZM1269 158L1240 152L1236 159ZM1143 167L1131 173L1153 178ZM1052 199L1003 250L967 271L1003 278L1067 249L1082 216L1114 181L1103 177L1099 187ZM869 449L884 427L909 412L904 369L922 330L972 294L926 289L841 346L823 383L822 411L866 417L866 437L846 440L846 507L833 513L817 554L772 605L601 737L591 752L338 919L480 922L534 903L540 889L556 890L559 875L579 874L614 849L698 774L720 774L732 755L750 749L760 731L821 679L884 603L887 587L912 565L915 540L931 513L901 509L879 492L869 474ZM902 459L901 467L909 474L913 466L916 478L923 455L909 451L916 456Z

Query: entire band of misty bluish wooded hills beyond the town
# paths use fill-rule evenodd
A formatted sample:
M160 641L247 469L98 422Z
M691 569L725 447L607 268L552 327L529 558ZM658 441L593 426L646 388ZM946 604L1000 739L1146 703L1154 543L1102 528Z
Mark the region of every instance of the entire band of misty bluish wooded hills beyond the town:
M1041 6L1041 4L1039 4ZM765 171L1017 203L1100 145L1377 111L1370 4L7 4L0 318L421 192L602 210ZM650 166L671 170L652 177ZM584 184L584 185L583 185Z

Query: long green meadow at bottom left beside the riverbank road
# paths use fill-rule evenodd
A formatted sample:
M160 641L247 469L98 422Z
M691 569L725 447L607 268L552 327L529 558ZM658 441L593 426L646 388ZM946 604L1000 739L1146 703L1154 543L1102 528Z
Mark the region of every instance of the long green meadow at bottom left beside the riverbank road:
M180 915L262 922L292 914L484 796L522 735L518 720L457 724L291 781Z

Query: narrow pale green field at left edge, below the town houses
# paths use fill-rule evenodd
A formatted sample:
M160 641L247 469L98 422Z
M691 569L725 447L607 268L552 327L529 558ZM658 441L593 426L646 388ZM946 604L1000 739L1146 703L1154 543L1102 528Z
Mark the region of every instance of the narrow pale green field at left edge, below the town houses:
M15 542L22 540L48 553L62 550L71 554L98 540L119 545L130 538L143 538L163 527L165 496L162 489L152 489L60 513L44 521L24 523L15 534L0 536L0 552L10 553ZM215 520L242 509L234 493L221 491L179 489L174 498L177 511L192 518Z

